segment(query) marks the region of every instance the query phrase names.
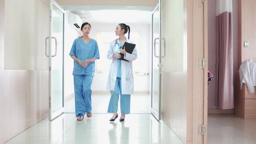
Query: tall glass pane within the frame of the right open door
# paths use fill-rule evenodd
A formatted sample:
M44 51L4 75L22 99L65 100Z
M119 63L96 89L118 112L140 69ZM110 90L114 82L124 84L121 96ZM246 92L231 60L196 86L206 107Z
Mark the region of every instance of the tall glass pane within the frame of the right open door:
M153 13L152 108L159 112L159 7Z

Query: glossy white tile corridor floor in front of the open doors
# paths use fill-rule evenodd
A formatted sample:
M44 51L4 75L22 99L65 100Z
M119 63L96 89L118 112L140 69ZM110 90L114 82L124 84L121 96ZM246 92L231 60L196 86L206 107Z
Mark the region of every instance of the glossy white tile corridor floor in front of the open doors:
M163 122L151 114L129 114L125 122L109 122L111 114L93 114L77 121L75 114L48 118L5 144L182 144Z

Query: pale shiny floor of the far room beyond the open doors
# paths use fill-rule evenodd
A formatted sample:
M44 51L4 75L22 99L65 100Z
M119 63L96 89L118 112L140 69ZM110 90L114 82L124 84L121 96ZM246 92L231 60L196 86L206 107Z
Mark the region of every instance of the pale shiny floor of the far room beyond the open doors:
M107 113L109 106L110 93L92 94L92 112ZM149 94L131 95L131 114L150 114L151 98ZM75 113L75 97L65 100L65 112ZM120 113L120 100L118 104L118 113Z

